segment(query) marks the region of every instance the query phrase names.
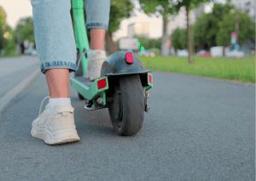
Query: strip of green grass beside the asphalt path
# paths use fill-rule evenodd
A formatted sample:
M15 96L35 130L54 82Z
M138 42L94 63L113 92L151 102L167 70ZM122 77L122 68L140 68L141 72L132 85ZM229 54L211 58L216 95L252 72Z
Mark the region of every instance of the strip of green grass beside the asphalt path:
M195 65L189 65L188 58L138 56L146 69L170 71L194 76L207 76L239 82L255 82L255 56L236 58L195 57Z

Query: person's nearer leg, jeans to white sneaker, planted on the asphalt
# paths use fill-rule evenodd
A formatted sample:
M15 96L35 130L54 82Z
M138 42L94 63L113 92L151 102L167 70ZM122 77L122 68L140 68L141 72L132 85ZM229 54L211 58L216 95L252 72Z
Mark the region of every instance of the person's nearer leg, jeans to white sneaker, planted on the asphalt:
M47 144L78 141L69 98L69 72L77 70L71 1L32 0L31 3L40 67L50 94L49 104L42 114L44 100L41 103L39 116L32 122L31 134Z

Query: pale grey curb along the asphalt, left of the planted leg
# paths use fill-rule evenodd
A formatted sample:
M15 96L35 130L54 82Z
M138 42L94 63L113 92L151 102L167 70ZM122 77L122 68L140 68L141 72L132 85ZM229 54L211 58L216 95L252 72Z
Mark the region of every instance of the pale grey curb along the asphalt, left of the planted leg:
M22 81L20 81L14 88L11 88L7 93L4 93L0 98L0 112L3 108L9 104L9 102L16 97L18 93L23 91L32 80L38 76L40 69L33 71L29 76L26 76Z

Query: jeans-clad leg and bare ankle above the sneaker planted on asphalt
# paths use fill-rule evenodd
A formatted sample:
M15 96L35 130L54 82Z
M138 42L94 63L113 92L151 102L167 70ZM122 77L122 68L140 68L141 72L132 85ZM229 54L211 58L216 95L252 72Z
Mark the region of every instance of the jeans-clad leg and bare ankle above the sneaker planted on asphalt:
M76 71L70 0L32 0L35 39L49 95L69 98L69 72Z

